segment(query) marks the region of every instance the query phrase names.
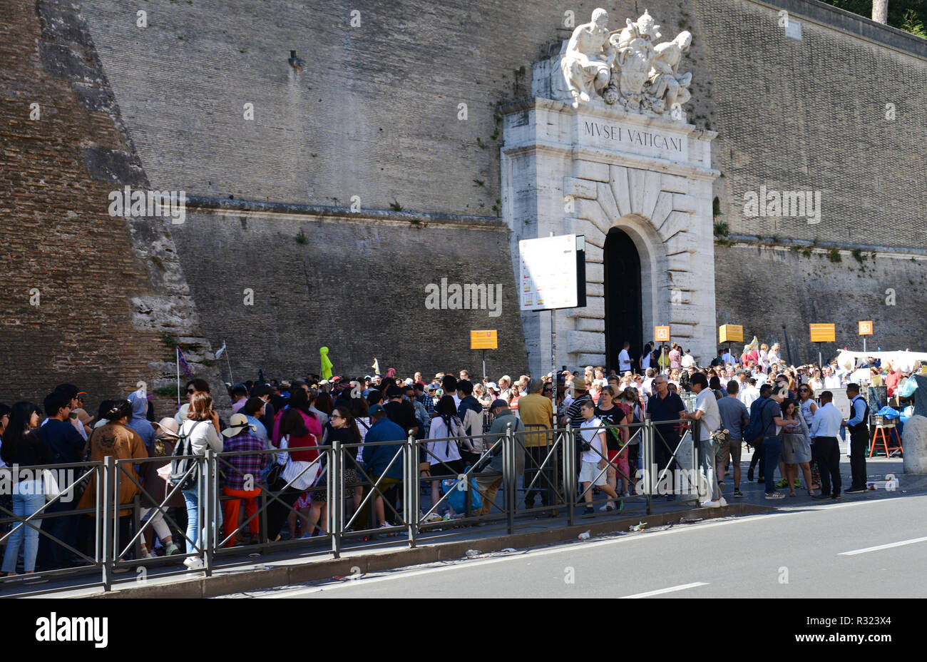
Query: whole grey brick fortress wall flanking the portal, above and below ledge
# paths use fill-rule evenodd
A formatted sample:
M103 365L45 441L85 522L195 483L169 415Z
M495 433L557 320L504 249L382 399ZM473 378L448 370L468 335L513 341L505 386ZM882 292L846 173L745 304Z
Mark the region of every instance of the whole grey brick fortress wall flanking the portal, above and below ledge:
M172 277L192 295L197 337L212 350L226 339L233 374L244 378L258 367L269 376L315 369L322 344L336 369L348 372L366 370L368 359L357 352L397 344L402 349L378 357L381 367L473 370L478 353L462 347L465 332L487 327L512 336L489 352L490 361L513 372L527 366L507 224L498 216L504 136L497 105L530 95L533 64L568 37L565 11L584 22L600 4L613 29L645 8L533 0L38 6L50 7L46 22L62 32L85 29L147 182L197 197L186 223L166 230L179 260ZM12 6L5 14L11 30L35 24L35 3ZM146 28L136 25L137 8L146 10ZM924 337L927 43L814 0L654 0L646 8L670 38L693 33L683 65L694 71L689 121L718 133L715 221L727 223L720 239L730 246L715 247L717 323L787 340L795 361L817 354L806 342L808 321L837 323L841 346L855 344L863 311L876 323L872 345L894 349ZM801 23L801 41L778 24L782 8ZM291 49L301 70L287 62ZM28 112L26 97L43 94L30 84L28 94L5 95L10 112ZM885 119L888 103L894 120ZM246 104L253 121L244 118ZM94 140L82 134L76 142ZM743 194L761 185L821 191L820 222L745 217ZM217 209L230 204L240 208ZM32 211L7 213L25 219ZM65 213L49 208L44 218L65 223ZM297 242L300 230L305 244ZM37 228L23 236L47 241ZM129 271L149 280L150 241L128 236L142 255ZM54 260L40 255L31 270ZM106 262L89 249L88 261ZM299 305L287 305L299 272L303 290L292 295ZM502 315L427 310L424 286L442 276L502 283ZM255 290L255 305L232 307L246 287ZM885 304L886 289L895 290L895 306ZM126 310L137 297L111 283L95 293ZM63 324L67 315L56 314ZM435 330L448 338L441 348L416 341ZM19 330L4 333L30 346ZM113 337L122 352L157 353L119 331ZM58 336L43 351L70 356L80 347ZM339 366L349 356L353 363ZM123 362L97 356L91 363L108 374Z

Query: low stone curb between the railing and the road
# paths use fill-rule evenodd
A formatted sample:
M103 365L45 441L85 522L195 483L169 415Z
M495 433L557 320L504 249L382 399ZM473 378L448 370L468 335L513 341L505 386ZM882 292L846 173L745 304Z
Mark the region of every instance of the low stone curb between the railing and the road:
M647 517L649 527L664 526L669 522L679 520L679 517L689 519L715 519L727 516L755 515L776 510L773 507L755 505L752 503L730 504L727 508L693 508L687 511L673 513L660 513ZM221 575L200 577L196 579L181 579L179 581L149 584L146 586L128 585L114 586L110 592L95 592L82 597L86 598L207 598L228 595L235 592L256 591L259 589L272 589L278 586L301 584L318 579L332 579L333 577L347 577L362 573L392 570L400 567L418 566L436 561L459 559L466 556L469 549L479 548L481 554L499 552L507 547L528 548L539 547L556 542L575 541L584 531L590 532L590 537L601 536L619 531L627 531L629 527L637 525L641 516L625 519L610 519L595 522L590 519L586 523L573 527L550 528L540 531L527 531L525 533L503 534L501 536L481 538L477 540L436 542L412 549L403 549L391 552L359 554L337 559L307 561L284 567L270 567L263 570L231 570Z

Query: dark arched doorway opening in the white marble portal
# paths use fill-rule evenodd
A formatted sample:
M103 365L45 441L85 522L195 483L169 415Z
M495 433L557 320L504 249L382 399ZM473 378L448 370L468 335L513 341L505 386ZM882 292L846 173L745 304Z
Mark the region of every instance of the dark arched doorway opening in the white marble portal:
M631 361L643 350L641 311L641 256L633 239L613 227L605 236L603 255L605 281L605 361L618 369L618 353L625 340L631 344Z

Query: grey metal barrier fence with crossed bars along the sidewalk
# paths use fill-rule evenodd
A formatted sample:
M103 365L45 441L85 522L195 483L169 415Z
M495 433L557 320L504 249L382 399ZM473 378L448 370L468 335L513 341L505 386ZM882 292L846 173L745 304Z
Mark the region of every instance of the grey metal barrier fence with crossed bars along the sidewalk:
M594 506L598 506L593 511L596 516L616 516L626 502L638 503L650 514L657 496L682 495L684 503L687 497L697 500L695 495L704 489L698 453L684 422L674 422L672 428L651 421L604 426L601 431L611 439L607 452L587 447L582 434L571 427L524 427L519 425L515 431L509 424L504 432L486 430L465 438L410 436L366 444L336 439L327 446L286 449L317 456L287 464L273 485L267 485L261 474L277 461L282 450L275 448L207 450L190 456L186 475L196 476L195 485L181 490L180 484L168 483L158 494L154 492L160 484L146 485L139 468L147 463L155 463L156 468L170 465L170 456L124 460L109 456L96 463L26 467L72 469L75 477L61 485L61 495L32 515L16 516L0 506L0 526L13 525L0 536L0 544L17 528L37 529L40 538L61 545L80 563L17 579L28 584L36 576L77 575L87 579L85 584L102 585L108 591L113 583L145 577L149 568L157 568L159 577L186 574L187 567L178 563L184 558L190 569L210 576L217 567L254 563L256 553L337 558L346 548L415 547L421 541L465 535L472 527L513 533L518 526L539 526L538 516L550 517L552 526L572 526ZM252 456L248 465L261 466L261 474L243 473L245 456ZM581 471L585 473L580 482ZM224 489L230 477L245 490ZM49 512L68 490L76 494L88 478L93 507ZM597 490L604 492L605 501L595 501ZM121 498L127 494L131 496ZM180 495L185 506L171 506ZM303 506L298 507L300 498ZM238 503L245 503L244 516L239 516ZM235 521L225 523L223 512ZM60 517L84 518L84 528L93 531L91 551L86 545L80 549L73 539L62 540L54 533L57 527L43 527L44 521ZM296 518L294 530L303 524L302 537L288 537L282 531L291 517ZM196 527L191 524L194 519ZM174 555L143 558L142 543L153 539L155 528L169 530L171 544L183 549ZM246 531L248 543L236 544ZM93 579L95 573L99 580ZM121 578L122 574L127 576Z

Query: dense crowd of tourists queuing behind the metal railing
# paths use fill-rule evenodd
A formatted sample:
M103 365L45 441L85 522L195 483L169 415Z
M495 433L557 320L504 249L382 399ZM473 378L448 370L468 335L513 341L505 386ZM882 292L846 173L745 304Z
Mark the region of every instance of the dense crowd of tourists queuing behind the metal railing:
M909 378L873 360L859 362L853 371L835 361L787 365L778 345L748 346L740 356L718 350L699 366L676 343L648 345L636 359L626 344L618 363L615 369L587 366L540 378L477 380L466 370L402 378L390 370L356 379L307 375L225 384L233 402L227 421L202 379L190 380L183 406L161 418L144 390L101 401L94 414L84 407L88 394L70 384L52 389L41 407L28 401L0 404L0 477L12 477L0 482L10 486L0 490L2 570L13 575L20 567L32 573L81 565L81 554L95 548L97 474L55 486L70 488L71 498L57 499L45 508L46 517L27 526L16 518L37 513L54 488L41 473L20 479L24 474L17 475L17 468L80 468L110 455L123 461L118 530L124 557L183 554L191 569L202 567L202 465L196 458L207 449L223 453L217 518L225 546L323 535L332 504L325 487L329 456L319 448L335 444L344 456L343 506L353 529L375 535L378 528L395 530L400 523L404 468L397 457L410 436L420 441L418 478L431 499L425 521L489 515L502 487L499 440L507 428L523 433L515 472L523 477L524 508L537 509L540 500L540 512L548 515L562 503L563 477L559 463L549 461L552 435L544 430L568 426L576 432L578 497L589 516L596 495L604 497L600 510L620 510L641 489L645 420L654 423L654 465L667 486L666 493L657 493L668 500L683 487L674 455L686 430L696 439L705 507L727 505L729 474L730 496L743 496L744 449L753 451L747 480L764 483L767 499L793 496L795 490L837 499L843 490L838 439L844 430L851 441L852 476L843 491L862 491L866 481L870 406L860 385L847 381L851 372L858 376L868 369L869 383L884 384L889 397ZM832 390L838 388L850 400L848 418L833 404ZM469 467L476 467L476 493L465 504L446 498L443 479L452 484ZM265 499L266 512L259 516ZM140 553L128 544L136 521L147 523ZM40 529L48 535L40 536Z

